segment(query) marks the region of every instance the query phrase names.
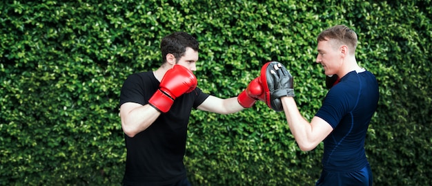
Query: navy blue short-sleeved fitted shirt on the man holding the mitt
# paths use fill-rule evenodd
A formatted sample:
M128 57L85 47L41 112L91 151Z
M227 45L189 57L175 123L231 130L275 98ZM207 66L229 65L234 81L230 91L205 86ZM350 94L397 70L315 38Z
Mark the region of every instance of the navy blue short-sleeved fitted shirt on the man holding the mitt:
M351 172L368 164L364 140L379 96L375 76L364 69L344 75L328 91L315 114L333 127L324 139L324 170Z

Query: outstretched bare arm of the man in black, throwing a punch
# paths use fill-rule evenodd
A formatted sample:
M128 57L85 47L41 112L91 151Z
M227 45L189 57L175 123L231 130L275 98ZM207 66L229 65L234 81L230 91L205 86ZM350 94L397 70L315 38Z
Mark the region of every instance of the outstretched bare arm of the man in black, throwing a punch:
M222 99L210 95L204 102L202 102L202 104L198 106L197 109L213 113L228 114L242 111L244 108L237 101L237 97Z

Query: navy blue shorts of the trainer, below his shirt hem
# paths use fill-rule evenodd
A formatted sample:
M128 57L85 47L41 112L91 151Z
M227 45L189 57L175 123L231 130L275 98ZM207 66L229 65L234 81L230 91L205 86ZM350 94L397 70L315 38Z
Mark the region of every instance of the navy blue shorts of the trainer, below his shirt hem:
M372 181L372 170L368 164L360 171L353 172L328 172L323 170L315 186L372 186Z

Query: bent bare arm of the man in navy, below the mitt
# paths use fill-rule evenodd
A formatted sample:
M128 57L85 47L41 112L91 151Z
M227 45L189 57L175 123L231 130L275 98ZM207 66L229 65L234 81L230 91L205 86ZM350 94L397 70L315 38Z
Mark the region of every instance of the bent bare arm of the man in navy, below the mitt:
M304 119L293 97L281 97L281 101L288 126L302 151L315 149L333 131L331 125L319 117L313 117L311 122Z

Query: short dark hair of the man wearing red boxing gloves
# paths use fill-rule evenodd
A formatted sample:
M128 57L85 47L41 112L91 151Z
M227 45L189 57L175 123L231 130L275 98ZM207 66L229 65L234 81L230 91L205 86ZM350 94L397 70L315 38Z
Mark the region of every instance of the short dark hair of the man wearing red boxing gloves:
M186 32L173 32L165 36L161 41L162 64L166 63L168 53L173 54L178 61L186 53L187 47L199 51L199 43L192 35Z

